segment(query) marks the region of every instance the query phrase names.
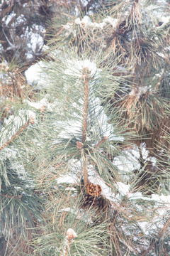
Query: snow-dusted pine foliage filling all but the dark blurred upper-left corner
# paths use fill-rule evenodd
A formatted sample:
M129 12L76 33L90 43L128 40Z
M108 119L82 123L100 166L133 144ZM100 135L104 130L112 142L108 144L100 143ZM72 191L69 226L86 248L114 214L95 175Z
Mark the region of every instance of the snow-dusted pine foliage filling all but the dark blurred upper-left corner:
M170 255L169 3L102 2L33 89L1 65L2 255Z

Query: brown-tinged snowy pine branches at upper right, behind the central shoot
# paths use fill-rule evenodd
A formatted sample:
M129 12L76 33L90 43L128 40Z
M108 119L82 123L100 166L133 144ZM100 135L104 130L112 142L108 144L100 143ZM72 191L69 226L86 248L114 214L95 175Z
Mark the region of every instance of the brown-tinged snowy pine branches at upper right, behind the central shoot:
M123 123L137 135L134 143L138 146L142 169L138 174L139 186L145 186L146 193L157 190L160 183L155 175L163 178L169 159L168 155L159 154L165 150L163 144L169 147L163 139L169 127L168 6L166 2L159 6L157 1L115 1L100 15L93 16L93 21L84 16L67 22L62 29L55 26L58 33L54 46L76 46L80 53L88 48L91 54L102 47L106 60L101 67L116 60L117 65L110 66L113 75L126 75L126 85L118 87L109 100L111 111L120 112ZM144 146L149 151L147 161L141 151ZM157 167L150 161L155 157Z

